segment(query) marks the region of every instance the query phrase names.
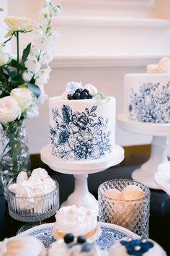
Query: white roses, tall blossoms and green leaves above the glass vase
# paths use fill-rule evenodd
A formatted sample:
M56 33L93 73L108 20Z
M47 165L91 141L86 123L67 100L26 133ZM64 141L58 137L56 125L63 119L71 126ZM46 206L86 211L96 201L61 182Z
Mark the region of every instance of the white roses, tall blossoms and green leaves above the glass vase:
M44 85L50 75L50 61L54 56L54 44L58 35L52 29L52 17L61 11L50 0L43 1L40 22L32 25L27 17L6 17L9 28L6 40L0 45L0 122L26 119L38 115L38 104L47 95ZM34 39L19 56L19 34L34 31ZM5 52L6 43L17 40L17 59ZM46 65L46 67L44 67Z

